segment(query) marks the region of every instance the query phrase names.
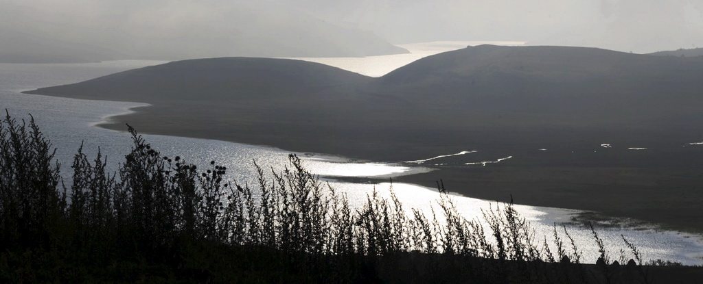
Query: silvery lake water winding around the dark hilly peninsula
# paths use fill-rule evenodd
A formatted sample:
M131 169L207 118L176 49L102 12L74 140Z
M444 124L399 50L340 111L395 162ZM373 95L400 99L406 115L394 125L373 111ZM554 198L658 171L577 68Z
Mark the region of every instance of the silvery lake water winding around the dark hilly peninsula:
M314 58L306 59L335 65L340 68L361 72L369 76L381 76L397 67L405 65L418 58L439 53L441 51L463 48L475 45L475 42L439 42L416 43L404 45L413 53L409 55L387 55L370 58ZM518 44L518 43L510 43ZM434 48L434 49L433 49ZM104 76L115 72L157 65L156 61L117 61L93 64L54 64L54 65L15 65L0 64L0 108L8 109L11 116L17 119L28 119L27 114L32 114L37 124L49 137L53 146L57 147L56 158L63 164L63 175L70 176L70 163L76 149L84 142L84 149L90 155L96 154L98 147L108 156L108 163L112 170L117 168L117 163L123 160L131 147L130 136L127 133L105 130L96 127L96 123L105 121L110 115L121 114L129 111L130 107L146 104L132 102L105 102L91 100L74 100L60 97L47 97L42 95L21 94L22 90L32 90L44 86L56 86L66 83L75 83L87 79ZM222 142L217 140L200 140L184 137L170 137L163 135L144 135L162 154L168 156L179 155L190 163L205 165L211 160L216 160L221 165L226 165L230 178L240 183L254 184L254 168L252 161L257 161L264 168L272 167L282 169L287 161L290 151L272 147L259 147L247 144ZM695 142L694 142L695 143ZM472 149L464 153L447 153L446 157L427 157L413 163L383 164L365 161L349 161L340 156L325 156L320 154L298 154L304 159L309 170L318 175L325 176L325 180L339 191L349 196L352 205L359 205L366 200L366 194L377 189L382 196L388 196L389 183L358 184L339 182L334 176L344 177L396 177L426 171L423 163L435 163L442 158L456 158L470 155ZM496 157L497 163L502 161ZM486 163L482 163L485 165ZM481 166L481 165L476 165ZM488 165L490 166L490 165ZM412 184L392 185L399 199L404 203L404 208L430 210L433 205L438 209L438 194L435 189L418 187ZM467 219L480 219L481 208L488 208L489 202L463 196L453 196L456 205ZM493 205L495 207L495 204ZM538 235L552 236L552 226L556 223L569 222L569 218L578 213L576 210L559 208L539 208L533 206L516 205L516 209L526 217ZM591 231L577 226L569 226L570 233L583 250L583 259L586 262L595 262L598 249L591 236ZM700 236L681 234L673 231L657 231L637 226L629 229L598 229L604 239L606 248L611 250L612 257L617 258L619 249L626 249L620 235L624 234L628 241L635 244L645 259L669 259L684 264L703 264L703 245ZM562 235L563 237L563 235ZM537 239L541 239L538 236ZM628 256L628 258L631 256Z

